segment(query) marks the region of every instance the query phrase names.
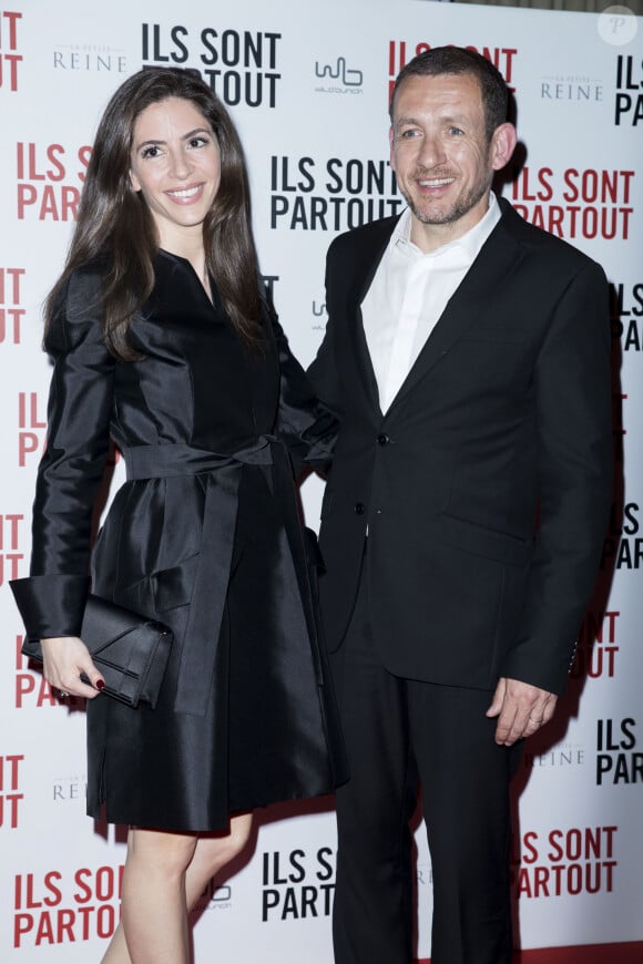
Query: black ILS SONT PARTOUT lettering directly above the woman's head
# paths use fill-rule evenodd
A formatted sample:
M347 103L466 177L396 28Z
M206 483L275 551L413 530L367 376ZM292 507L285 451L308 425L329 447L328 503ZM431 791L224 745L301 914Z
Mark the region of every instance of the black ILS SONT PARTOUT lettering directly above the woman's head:
M274 107L277 103L280 33L143 23L143 65L197 65L204 81L229 106Z

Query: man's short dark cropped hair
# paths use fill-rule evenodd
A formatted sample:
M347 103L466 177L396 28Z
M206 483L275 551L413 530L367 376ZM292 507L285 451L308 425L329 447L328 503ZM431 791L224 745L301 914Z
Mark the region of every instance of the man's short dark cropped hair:
M390 98L388 109L392 123L395 99L401 84L410 76L439 76L441 74L470 74L480 85L484 131L490 141L496 127L507 120L509 89L500 71L480 53L463 47L433 47L418 53L402 66Z

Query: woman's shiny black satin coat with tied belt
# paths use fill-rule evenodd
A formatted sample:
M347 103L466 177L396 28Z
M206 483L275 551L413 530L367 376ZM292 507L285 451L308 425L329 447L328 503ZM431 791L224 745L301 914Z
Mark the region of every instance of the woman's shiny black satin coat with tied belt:
M214 830L345 776L288 458L327 457L331 425L275 321L253 352L188 261L160 252L155 273L132 325L140 361L104 346L98 270L61 298L20 604L28 635L79 634L111 438L127 481L93 592L175 640L155 710L88 704L88 812L105 801L111 822Z

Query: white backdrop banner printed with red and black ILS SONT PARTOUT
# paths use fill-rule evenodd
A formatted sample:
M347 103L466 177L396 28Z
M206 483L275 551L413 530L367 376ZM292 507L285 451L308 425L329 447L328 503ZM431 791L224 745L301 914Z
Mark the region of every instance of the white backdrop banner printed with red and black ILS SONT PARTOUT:
M2 962L99 961L119 920L125 829L84 816L83 706L60 705L21 657L8 588L28 573L45 441L41 306L63 264L98 119L145 64L202 72L239 129L262 270L307 363L326 322L328 244L402 209L388 160L392 81L416 52L446 43L483 53L514 92L519 163L502 193L599 260L613 296L613 512L569 693L528 743L517 781L519 940L588 953L643 941L642 19L623 7L599 16L419 0L0 0ZM303 489L315 527L322 491L317 479ZM421 824L417 850L427 958ZM329 964L335 851L331 799L259 813L252 853L202 898L197 960ZM624 960L616 954L605 962Z

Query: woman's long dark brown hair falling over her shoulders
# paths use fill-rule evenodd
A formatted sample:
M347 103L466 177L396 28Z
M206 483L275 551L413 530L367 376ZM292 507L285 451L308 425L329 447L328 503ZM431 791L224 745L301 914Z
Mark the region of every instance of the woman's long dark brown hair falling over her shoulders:
M154 286L159 238L142 193L130 184L132 139L139 115L167 98L191 101L214 131L221 181L203 224L206 266L237 332L252 347L258 345L261 294L243 148L218 98L197 71L180 68L144 68L118 89L105 109L65 266L45 302L45 340L58 296L70 275L98 263L103 266L105 342L116 358L141 357L130 345L130 324Z

